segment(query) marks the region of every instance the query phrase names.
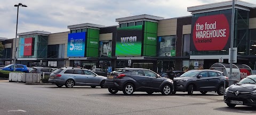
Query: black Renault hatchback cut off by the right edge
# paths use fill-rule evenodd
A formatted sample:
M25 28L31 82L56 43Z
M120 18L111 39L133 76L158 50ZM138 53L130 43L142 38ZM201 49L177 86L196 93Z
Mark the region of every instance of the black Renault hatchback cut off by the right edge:
M224 100L229 107L247 105L256 108L256 75L247 76L226 88Z

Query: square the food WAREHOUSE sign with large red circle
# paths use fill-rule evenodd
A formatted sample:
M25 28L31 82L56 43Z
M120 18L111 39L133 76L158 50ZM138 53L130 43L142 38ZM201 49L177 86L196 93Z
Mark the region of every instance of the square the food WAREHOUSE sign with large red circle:
M231 13L193 18L191 27L190 51L220 51L230 47Z

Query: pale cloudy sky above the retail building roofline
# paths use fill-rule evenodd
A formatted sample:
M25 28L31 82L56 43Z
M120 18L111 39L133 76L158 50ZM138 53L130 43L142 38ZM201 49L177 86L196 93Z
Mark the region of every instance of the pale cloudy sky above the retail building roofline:
M28 31L69 31L67 26L95 23L115 26L117 18L150 14L175 18L191 15L187 7L227 0L0 0L0 37L15 38L17 7L18 33ZM256 4L255 0L242 0Z

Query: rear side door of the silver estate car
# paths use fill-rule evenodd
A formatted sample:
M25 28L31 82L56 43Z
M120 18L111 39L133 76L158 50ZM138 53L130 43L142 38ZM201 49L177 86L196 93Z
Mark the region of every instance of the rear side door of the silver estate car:
M86 76L84 75L83 70L74 70L73 76L77 85L85 85Z

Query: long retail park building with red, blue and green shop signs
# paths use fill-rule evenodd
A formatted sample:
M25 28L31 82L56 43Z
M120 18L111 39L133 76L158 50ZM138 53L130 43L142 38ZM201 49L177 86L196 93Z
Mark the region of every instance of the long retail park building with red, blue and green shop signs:
M147 68L156 72L209 69L228 63L232 1L188 7L192 15L164 19L154 15L117 18L116 26L82 23L70 31L19 33L17 63L45 67ZM235 2L237 63L256 62L256 5ZM15 39L5 45L1 65L14 60ZM11 53L12 52L12 53ZM131 60L131 64L129 64Z

